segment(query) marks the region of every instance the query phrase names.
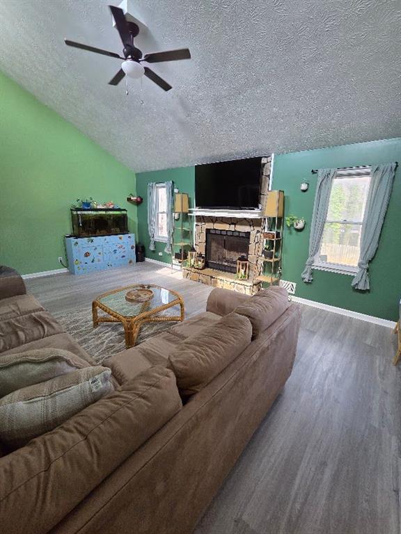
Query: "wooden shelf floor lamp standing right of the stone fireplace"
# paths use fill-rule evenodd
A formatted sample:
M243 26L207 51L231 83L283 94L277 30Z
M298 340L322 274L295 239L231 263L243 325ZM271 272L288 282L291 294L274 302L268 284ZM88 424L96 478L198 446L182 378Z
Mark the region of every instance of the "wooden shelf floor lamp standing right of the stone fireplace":
M281 278L281 253L283 250L284 191L269 191L263 218L263 234L274 234L274 238L263 238L263 249L267 244L273 252L272 258L260 257L262 273L255 278L262 284L278 285Z

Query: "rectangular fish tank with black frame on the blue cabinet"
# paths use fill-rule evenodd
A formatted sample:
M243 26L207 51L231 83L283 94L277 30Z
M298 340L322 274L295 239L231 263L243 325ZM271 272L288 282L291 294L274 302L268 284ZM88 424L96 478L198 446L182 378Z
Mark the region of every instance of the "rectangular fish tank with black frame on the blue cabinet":
M128 234L126 209L71 209L72 236L95 237Z

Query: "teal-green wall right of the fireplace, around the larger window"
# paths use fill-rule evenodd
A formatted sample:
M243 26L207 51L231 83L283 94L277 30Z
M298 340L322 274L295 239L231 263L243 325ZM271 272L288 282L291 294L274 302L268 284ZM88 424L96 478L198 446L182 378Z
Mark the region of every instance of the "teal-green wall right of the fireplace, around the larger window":
M375 258L370 263L370 291L355 291L352 277L314 270L312 284L301 280L308 257L310 220L317 175L316 168L336 168L375 163L401 163L401 138L357 143L340 147L279 154L274 160L273 188L285 192L285 213L306 219L303 232L285 229L283 241L283 280L297 282L296 295L325 304L395 321L401 296L401 165L395 175ZM302 181L309 189L302 193Z

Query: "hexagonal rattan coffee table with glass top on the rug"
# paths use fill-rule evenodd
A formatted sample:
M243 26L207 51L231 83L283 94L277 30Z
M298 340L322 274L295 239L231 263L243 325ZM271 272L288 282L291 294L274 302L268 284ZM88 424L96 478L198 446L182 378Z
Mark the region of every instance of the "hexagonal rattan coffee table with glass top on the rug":
M145 302L129 302L127 293L137 290L150 290L151 296ZM146 292L145 292L146 293ZM160 316L165 309L180 305L180 315ZM102 309L106 316L99 316L98 309ZM143 323L183 321L184 301L179 293L171 289L164 289L155 284L134 284L132 286L114 289L103 293L92 302L93 327L99 323L122 323L125 332L125 347L133 347Z

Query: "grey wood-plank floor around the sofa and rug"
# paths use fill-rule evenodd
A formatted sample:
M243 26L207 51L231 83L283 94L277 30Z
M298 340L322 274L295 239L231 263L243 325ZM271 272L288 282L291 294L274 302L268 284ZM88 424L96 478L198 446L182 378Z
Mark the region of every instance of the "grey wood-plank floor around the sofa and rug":
M57 314L135 282L179 291L187 316L210 293L155 264L27 286ZM395 341L389 328L303 307L294 371L196 534L400 534Z

